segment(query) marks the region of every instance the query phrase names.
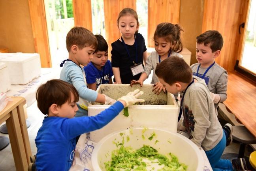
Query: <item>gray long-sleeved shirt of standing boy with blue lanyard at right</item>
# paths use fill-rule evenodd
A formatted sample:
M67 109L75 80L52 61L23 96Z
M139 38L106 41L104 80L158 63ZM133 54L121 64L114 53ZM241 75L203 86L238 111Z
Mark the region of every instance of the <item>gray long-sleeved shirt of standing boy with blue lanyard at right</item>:
M196 75L198 66L199 63L190 66L193 75ZM202 77L206 70L207 68L202 68L200 66L198 70L198 77ZM210 92L220 96L220 102L223 102L227 99L228 72L224 68L215 63L213 67L210 68L210 70L205 74L203 79L205 80L205 83ZM214 105L215 109L217 109L218 103Z

